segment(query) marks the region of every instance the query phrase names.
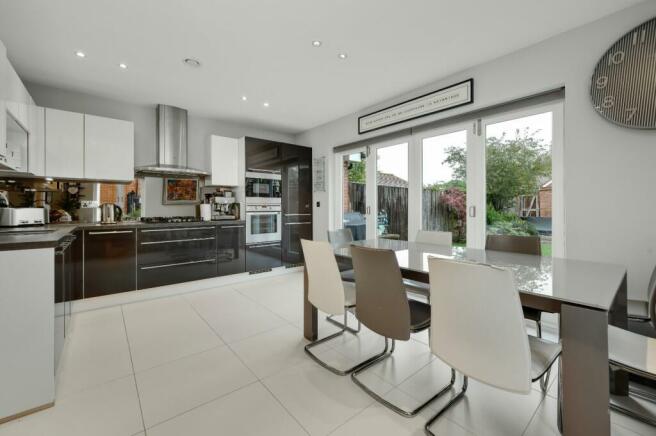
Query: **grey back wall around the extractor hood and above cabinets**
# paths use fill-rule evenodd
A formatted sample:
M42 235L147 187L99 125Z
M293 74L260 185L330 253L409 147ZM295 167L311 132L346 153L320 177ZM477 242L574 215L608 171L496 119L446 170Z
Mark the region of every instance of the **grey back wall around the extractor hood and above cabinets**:
M135 165L147 165L155 162L155 129L157 122L155 103L149 106L140 106L30 82L26 83L26 87L36 104L39 106L134 122ZM194 116L193 113L189 114L188 131L188 165L206 171L210 171L210 163L207 162L207 150L209 147L210 135L220 135L231 138L253 136L256 138L274 139L284 142L293 142L294 140L292 135L261 129L257 126L197 117ZM144 198L142 199L144 202L145 215L194 215L194 206L163 205L162 189L162 179L153 177L146 178Z

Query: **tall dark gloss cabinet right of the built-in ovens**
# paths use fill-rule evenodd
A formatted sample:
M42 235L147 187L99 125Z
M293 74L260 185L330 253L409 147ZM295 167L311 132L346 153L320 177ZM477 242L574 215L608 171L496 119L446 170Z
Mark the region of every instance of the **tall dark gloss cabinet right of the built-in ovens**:
M282 149L282 261L303 262L301 239L312 239L312 149L285 144Z

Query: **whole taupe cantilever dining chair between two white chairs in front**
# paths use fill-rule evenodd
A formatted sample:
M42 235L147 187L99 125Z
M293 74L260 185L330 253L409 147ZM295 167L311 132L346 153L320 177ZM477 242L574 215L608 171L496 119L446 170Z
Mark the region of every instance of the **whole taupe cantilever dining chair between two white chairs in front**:
M351 255L355 270L358 319L368 329L385 338L383 355L355 370L351 378L356 385L384 406L406 417L415 416L431 401L451 389L455 382L455 371L452 372L450 384L413 410L404 410L387 401L367 387L358 375L390 357L394 353L395 341L408 341L411 333L430 327L430 306L408 299L394 251L353 246Z

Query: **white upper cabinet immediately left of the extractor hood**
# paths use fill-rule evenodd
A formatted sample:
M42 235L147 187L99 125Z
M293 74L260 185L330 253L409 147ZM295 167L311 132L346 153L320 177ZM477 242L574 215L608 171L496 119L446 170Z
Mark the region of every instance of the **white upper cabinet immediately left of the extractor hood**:
M84 115L84 178L134 179L134 124Z

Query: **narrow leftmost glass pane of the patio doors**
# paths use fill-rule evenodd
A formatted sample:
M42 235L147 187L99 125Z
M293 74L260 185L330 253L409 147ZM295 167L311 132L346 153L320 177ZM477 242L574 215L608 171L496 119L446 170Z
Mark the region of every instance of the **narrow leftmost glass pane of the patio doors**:
M367 155L364 150L341 157L341 228L356 241L367 238Z

